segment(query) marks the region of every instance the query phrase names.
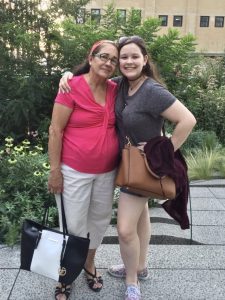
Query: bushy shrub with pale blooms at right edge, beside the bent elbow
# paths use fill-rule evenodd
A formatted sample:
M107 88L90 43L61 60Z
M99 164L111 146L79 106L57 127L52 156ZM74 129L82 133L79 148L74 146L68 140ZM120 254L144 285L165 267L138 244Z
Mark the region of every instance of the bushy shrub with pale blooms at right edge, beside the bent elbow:
M222 58L198 57L181 68L175 95L195 115L196 130L214 131L224 144L225 68ZM194 63L194 65L193 65Z

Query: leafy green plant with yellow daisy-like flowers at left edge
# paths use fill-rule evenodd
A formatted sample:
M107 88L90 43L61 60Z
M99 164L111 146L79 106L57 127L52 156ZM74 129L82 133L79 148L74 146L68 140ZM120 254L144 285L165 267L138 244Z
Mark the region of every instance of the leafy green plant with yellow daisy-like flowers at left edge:
M50 201L49 225L57 225L57 209L47 191L48 157L42 151L28 140L14 145L10 137L1 147L0 242L18 242L24 218L40 222L45 202Z

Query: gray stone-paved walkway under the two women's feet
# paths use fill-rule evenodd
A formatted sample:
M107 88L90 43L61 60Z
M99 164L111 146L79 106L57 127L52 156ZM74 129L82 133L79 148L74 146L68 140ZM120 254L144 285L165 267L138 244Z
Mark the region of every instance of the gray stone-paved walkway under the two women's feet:
M141 283L143 300L225 299L225 180L191 185L193 243L160 205L151 208L150 279ZM104 288L95 294L83 274L75 281L71 300L123 299L124 281L110 277L108 265L121 263L117 234L110 227L96 259ZM19 247L0 245L0 300L52 300L55 282L19 271Z

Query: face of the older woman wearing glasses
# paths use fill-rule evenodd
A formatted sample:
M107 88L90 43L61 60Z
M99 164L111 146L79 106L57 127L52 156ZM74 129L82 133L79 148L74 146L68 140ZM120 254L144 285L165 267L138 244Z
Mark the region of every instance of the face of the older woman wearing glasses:
M113 44L104 43L99 47L96 53L90 55L90 71L94 72L97 76L109 78L112 76L116 69L117 61L117 48Z

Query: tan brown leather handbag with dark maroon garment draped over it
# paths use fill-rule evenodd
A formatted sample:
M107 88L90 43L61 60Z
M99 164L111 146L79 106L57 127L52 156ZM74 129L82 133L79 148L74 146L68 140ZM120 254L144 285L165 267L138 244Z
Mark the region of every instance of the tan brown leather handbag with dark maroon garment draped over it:
M156 199L174 199L175 182L168 176L154 174L145 153L129 142L122 150L122 159L116 176L116 185L140 196Z

